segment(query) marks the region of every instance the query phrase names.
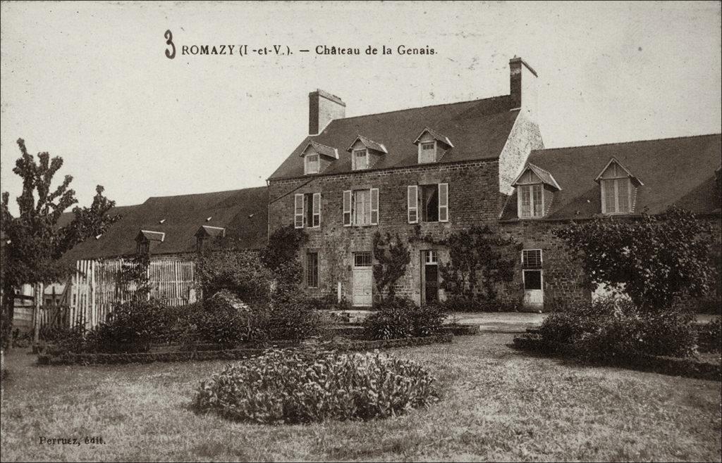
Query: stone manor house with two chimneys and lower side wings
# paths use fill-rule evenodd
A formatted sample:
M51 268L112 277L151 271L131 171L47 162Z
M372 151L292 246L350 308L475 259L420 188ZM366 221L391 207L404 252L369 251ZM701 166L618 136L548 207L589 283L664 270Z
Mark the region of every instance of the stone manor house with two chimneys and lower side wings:
M266 187L124 207L105 236L66 259L136 251L150 251L154 260L191 259L219 235L254 251L274 230L293 225L308 236L300 250L303 291L368 308L376 296L374 233L398 234L406 243L419 233L442 239L490 225L521 243L513 282L500 298L543 310L552 300L592 295L552 235L560 224L633 220L677 204L720 229L720 134L544 149L537 73L521 58L509 67L508 95L357 117L346 117L338 96L313 91L308 136ZM443 300L439 266L448 249L432 241L407 246L412 258L396 294L417 303Z

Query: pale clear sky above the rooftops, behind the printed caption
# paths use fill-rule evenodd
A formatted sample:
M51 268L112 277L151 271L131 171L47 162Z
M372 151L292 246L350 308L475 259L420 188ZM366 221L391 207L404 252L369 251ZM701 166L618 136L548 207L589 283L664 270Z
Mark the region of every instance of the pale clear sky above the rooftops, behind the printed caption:
M74 176L81 205L97 184L119 205L261 186L307 135L310 91L340 96L347 117L503 95L515 55L539 74L548 148L722 131L719 2L0 8L0 183L11 198L18 138L64 159L57 179ZM181 54L222 44L235 54ZM240 56L244 44L293 54ZM317 55L318 45L362 55ZM365 55L368 45L393 54Z

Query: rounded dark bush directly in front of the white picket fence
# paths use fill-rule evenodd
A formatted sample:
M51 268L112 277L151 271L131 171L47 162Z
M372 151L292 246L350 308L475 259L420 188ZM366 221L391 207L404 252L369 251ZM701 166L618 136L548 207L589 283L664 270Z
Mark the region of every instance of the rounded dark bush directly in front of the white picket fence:
M107 320L86 336L87 349L99 352L144 352L153 338L170 331L170 319L160 300L118 304Z

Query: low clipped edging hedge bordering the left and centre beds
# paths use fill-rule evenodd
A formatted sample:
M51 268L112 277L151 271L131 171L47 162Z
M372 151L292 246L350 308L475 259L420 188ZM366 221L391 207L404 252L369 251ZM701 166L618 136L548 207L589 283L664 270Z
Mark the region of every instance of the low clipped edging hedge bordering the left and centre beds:
M423 338L402 338L379 341L346 341L340 343L320 343L318 349L337 351L373 351L374 349L392 349L394 347L424 346L432 343L451 343L453 335L425 336ZM143 352L128 354L77 354L66 352L60 355L40 354L41 365L103 365L103 364L149 364L154 361L188 360L240 360L261 354L264 348L226 349L219 351L176 351Z

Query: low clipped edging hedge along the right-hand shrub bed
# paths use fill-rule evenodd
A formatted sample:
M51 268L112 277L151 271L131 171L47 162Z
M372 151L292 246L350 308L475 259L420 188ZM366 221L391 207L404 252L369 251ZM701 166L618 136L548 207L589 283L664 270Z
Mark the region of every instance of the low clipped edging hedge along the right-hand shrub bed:
M539 354L552 354L570 357L578 356L578 352L575 351L573 346L570 346L569 344L543 341L537 336L538 335L531 334L514 338L514 346L518 349L534 351ZM643 371L669 374L673 376L722 381L721 364L713 364L695 359L630 353L627 356L614 359L614 361L596 361L596 364L611 367L630 367Z

